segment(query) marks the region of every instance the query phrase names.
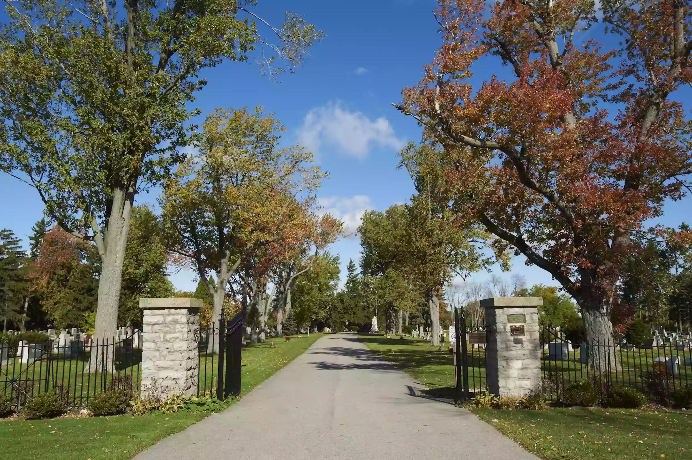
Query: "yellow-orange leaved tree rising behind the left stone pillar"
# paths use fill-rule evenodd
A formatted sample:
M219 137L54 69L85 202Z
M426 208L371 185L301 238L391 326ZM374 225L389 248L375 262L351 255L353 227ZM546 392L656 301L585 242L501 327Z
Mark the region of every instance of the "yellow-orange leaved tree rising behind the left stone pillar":
M281 252L300 238L326 176L302 147L278 147L282 131L260 107L216 109L203 124L199 154L165 184L169 246L209 289L212 321L221 318L228 282L244 262L260 248Z

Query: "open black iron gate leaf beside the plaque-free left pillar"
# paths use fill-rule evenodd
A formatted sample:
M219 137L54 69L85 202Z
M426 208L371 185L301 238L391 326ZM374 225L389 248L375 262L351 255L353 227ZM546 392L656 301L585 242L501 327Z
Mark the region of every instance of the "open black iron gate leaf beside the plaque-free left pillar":
M217 398L240 395L242 374L241 353L243 349L243 313L233 318L221 318L219 324L219 378L217 379Z

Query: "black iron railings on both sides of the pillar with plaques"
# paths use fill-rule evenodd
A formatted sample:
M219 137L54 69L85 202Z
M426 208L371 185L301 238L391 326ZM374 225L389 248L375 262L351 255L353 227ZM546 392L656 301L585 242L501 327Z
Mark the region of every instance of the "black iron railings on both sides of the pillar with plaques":
M487 389L486 342L489 328L469 325L455 315L455 387L465 399ZM590 380L607 392L613 386L637 389L655 401L668 401L692 385L692 338L689 333L666 333L643 344L601 340L576 344L552 326L540 328L543 387L549 399L561 400L572 383ZM457 358L458 357L458 358Z

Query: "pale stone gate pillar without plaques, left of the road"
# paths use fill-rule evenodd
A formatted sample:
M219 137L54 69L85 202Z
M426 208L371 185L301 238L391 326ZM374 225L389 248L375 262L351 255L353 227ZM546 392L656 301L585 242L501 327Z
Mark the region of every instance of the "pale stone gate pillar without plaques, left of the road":
M199 299L140 299L142 398L193 396L199 386Z

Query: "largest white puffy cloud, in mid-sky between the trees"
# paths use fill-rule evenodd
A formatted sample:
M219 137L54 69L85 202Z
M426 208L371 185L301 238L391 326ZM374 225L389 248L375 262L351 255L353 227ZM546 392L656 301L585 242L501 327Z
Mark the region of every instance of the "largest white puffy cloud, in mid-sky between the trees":
M331 102L309 111L298 133L298 142L313 153L325 145L356 158L365 158L373 145L392 149L404 145L386 118L373 121Z

